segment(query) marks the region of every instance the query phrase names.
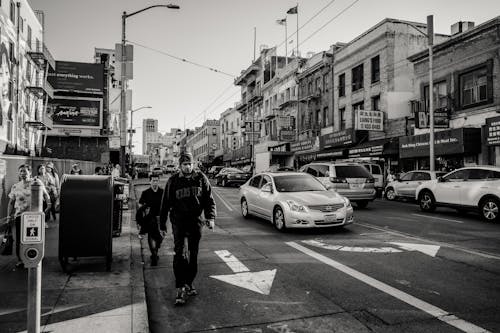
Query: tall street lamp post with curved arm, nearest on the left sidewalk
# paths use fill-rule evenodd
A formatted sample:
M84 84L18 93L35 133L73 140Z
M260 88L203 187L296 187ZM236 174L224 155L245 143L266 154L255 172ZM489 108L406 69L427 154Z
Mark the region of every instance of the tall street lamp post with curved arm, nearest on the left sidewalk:
M120 91L120 123L121 123L121 133L120 133L120 167L121 167L121 172L122 176L125 176L125 146L127 143L127 134L125 129L127 128L127 111L125 110L125 89L126 89L126 72L125 72L125 42L126 42L126 20L127 18L134 16L136 14L142 13L148 9L156 8L156 7L165 7L169 9L179 9L180 7L177 5L173 4L168 4L168 5L153 5L149 6L140 10L137 10L135 12L132 12L130 14L127 14L127 12L123 12L122 14L122 54L121 54L121 91Z

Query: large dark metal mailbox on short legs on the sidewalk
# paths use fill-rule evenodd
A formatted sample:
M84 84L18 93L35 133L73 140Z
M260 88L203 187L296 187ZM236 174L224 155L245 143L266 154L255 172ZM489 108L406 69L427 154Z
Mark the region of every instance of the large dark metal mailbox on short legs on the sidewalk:
M64 175L59 217L59 262L68 258L105 257L112 262L113 180L110 176Z

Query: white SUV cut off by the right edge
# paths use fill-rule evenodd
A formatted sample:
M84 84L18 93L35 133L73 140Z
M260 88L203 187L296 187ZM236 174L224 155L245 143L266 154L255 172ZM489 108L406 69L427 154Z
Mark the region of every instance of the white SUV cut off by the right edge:
M500 220L500 168L465 167L435 180L424 182L415 191L420 209L432 212L446 206L461 211L478 211L490 222Z

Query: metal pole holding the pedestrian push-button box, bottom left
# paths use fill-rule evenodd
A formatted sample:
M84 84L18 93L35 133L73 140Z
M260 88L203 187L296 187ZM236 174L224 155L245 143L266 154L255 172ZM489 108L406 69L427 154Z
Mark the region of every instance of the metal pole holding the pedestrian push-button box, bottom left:
M31 184L31 211L42 211L42 188L40 180L35 180ZM42 230L45 232L45 230ZM27 331L28 333L40 333L42 303L42 262L36 267L28 268L28 312Z

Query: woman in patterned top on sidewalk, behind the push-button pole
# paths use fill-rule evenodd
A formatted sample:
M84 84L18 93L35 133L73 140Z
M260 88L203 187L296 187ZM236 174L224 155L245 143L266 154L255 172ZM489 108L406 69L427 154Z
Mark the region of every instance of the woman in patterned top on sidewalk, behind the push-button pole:
M15 223L16 230L16 256L18 262L16 267L22 268L24 264L19 256L19 242L21 239L21 214L29 211L31 205L31 184L33 180L31 179L31 168L27 164L20 165L18 168L18 174L20 181L12 185L9 193L9 205L7 206L7 216L9 217L9 222L12 225L12 221ZM48 203L48 209L50 209L50 197L45 187L42 187L42 195L45 201Z

